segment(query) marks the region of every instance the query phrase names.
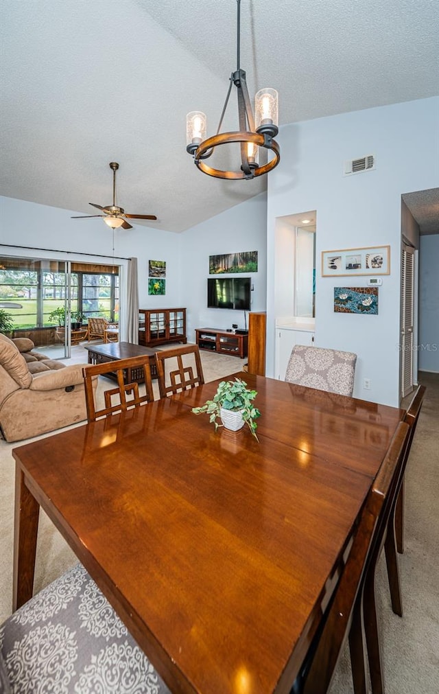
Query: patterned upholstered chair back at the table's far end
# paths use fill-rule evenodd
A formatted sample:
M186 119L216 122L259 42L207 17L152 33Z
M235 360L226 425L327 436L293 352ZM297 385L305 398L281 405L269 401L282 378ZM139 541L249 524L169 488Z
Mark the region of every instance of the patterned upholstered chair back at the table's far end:
M309 388L352 396L356 354L322 347L295 345L285 380Z

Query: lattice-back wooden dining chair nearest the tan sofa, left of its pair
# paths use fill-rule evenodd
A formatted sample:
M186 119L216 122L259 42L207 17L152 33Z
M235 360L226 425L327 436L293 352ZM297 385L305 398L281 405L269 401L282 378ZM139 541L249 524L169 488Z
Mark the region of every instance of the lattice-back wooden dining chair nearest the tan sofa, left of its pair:
M153 383L149 365L150 357L141 355L130 359L116 359L114 362L88 365L83 369L85 384L85 402L87 421L123 412L131 407L139 407L154 400ZM93 392L92 378L96 375L111 375L117 380L117 388L107 389L103 393L105 407L98 407L96 393ZM139 382L145 384L145 395L139 393Z

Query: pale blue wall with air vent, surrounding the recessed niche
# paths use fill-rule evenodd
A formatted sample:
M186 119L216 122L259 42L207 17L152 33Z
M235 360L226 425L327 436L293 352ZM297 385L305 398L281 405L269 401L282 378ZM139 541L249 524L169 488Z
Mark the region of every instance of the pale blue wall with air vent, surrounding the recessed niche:
M422 99L281 128L282 161L268 180L267 375L274 373L275 296L284 282L276 218L316 210L316 345L358 355L354 396L399 403L401 195L439 185L438 108L438 98ZM368 154L376 170L342 175L345 160ZM388 244L391 273L379 289L379 315L334 313L334 287L363 287L366 278L322 278L320 253Z

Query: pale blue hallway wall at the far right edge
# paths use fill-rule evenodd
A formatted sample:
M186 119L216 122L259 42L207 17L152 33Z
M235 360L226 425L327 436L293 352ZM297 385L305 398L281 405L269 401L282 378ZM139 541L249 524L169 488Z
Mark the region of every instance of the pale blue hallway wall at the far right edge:
M439 373L439 233L420 236L418 368Z

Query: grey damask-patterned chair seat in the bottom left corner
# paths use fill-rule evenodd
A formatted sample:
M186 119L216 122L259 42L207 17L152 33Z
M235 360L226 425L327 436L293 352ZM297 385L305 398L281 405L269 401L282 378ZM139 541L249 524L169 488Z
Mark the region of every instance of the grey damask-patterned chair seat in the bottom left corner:
M0 627L3 691L170 694L81 564Z

